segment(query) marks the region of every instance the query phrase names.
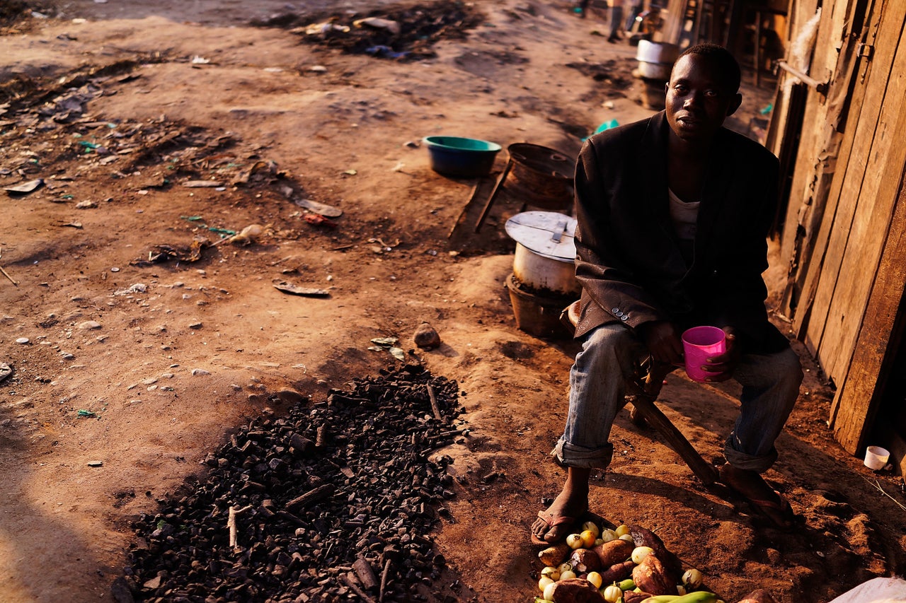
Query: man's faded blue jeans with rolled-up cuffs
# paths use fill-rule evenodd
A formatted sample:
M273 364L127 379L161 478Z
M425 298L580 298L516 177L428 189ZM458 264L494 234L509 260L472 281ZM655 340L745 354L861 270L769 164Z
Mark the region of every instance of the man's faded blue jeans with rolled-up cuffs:
M570 369L564 435L553 453L560 464L601 469L610 464L613 419L626 405L626 394L635 391L636 369L647 357L645 345L622 324L605 324L585 336ZM744 354L733 378L742 386L741 406L724 455L734 467L763 473L776 461L774 442L799 395L799 357L789 348Z

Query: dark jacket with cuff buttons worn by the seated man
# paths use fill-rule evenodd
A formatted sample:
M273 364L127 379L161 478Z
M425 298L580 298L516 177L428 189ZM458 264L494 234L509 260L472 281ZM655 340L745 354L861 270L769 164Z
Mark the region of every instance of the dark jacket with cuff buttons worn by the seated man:
M689 267L670 221L669 129L661 111L595 134L582 148L575 174L575 272L583 287L576 337L609 322L636 329L673 321L680 329L732 326L746 353L786 348L767 319L761 276L777 159L754 140L718 131Z

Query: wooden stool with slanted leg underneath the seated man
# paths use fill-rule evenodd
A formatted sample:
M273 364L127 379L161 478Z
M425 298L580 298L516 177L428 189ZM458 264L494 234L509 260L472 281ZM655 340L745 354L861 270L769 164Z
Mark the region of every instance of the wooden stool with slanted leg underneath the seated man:
M564 324L572 325L574 331L575 325L579 321L579 302L573 302L567 306L561 315L561 320L564 321ZM718 470L699 455L699 452L689 444L686 436L683 436L682 432L660 411L660 408L654 405L654 401L660 394L660 388L663 386L664 378L673 371L674 367L664 366L649 359L642 363L641 368L646 369L646 372L635 381L638 393L626 396L626 401L632 404L630 416L635 415L632 422L638 424L638 418L641 416L646 423L658 431L660 436L667 440L670 447L682 457L682 460L689 465L689 469L702 483L711 485L717 482Z

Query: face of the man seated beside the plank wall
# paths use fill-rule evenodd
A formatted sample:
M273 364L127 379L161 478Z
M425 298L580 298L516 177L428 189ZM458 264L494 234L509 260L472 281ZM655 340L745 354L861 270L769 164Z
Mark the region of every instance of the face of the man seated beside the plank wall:
M729 91L726 80L708 57L679 57L667 82L666 101L667 121L679 139L708 141L737 110L742 96Z

